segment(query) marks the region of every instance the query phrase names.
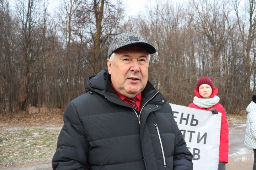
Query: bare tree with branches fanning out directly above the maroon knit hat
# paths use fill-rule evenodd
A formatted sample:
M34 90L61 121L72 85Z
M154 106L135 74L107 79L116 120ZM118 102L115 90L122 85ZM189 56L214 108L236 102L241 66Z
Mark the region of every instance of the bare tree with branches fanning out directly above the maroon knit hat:
M201 0L199 2L193 0L192 7L194 8L193 17L195 24L199 26L197 31L205 36L209 41L209 44L207 42L206 43L207 46L210 45L209 50L212 53L210 60L211 65L209 67L212 69L212 77L218 78L221 75L221 52L228 38L226 25L228 23L229 9L225 1L220 2L208 0ZM207 65L207 63L204 63L203 66L204 65Z

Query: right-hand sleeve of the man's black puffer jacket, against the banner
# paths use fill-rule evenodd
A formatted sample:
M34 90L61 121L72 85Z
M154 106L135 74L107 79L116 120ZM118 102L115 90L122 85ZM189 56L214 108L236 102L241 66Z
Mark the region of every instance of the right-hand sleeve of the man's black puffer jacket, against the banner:
M175 148L174 148L174 170L193 170L193 155L187 148L187 144L183 139L183 135L175 123Z

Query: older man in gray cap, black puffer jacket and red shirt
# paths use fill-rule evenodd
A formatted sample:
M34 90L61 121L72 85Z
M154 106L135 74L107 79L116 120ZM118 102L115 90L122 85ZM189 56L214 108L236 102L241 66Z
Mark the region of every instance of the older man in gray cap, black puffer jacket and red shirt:
M193 169L169 103L148 81L155 52L138 34L114 37L108 69L90 77L86 93L66 108L53 169Z

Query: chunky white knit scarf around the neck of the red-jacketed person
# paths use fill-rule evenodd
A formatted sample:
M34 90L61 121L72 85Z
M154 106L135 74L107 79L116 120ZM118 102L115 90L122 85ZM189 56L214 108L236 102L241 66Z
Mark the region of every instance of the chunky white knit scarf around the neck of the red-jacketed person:
M196 104L200 108L209 108L219 103L219 97L214 96L213 98L199 98L197 96L194 97L193 103Z

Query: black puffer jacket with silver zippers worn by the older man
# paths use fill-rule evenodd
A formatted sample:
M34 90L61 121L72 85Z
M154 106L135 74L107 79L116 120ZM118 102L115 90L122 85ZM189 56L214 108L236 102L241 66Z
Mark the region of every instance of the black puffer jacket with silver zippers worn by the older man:
M66 108L53 169L192 170L192 154L164 97L148 82L139 124L110 81L107 69L90 77L87 92Z

